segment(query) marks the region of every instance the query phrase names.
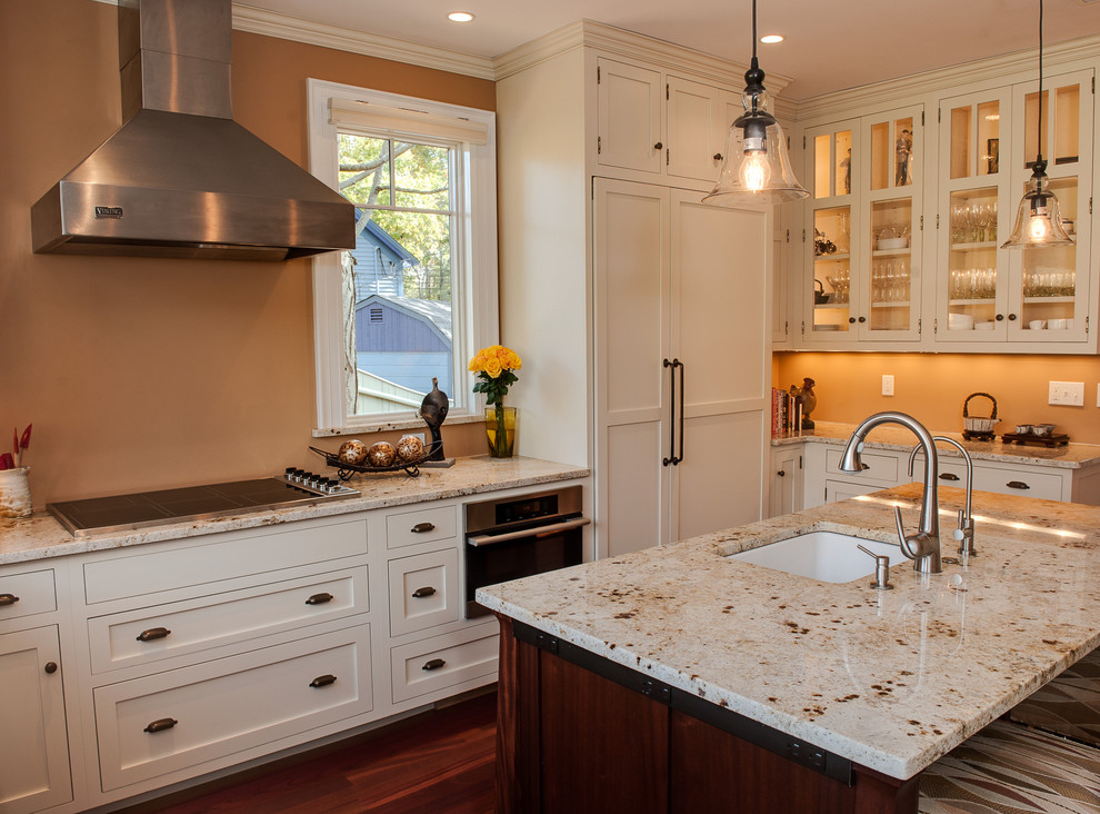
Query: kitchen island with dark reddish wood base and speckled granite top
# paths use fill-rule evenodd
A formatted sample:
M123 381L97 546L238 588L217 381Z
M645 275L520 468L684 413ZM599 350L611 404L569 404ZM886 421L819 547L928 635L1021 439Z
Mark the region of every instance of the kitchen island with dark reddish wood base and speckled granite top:
M919 499L480 590L503 623L500 810L914 812L922 770L1100 644L1100 508L976 493L978 556L894 566L888 592L727 557L814 529L892 540ZM962 499L941 489L944 556Z

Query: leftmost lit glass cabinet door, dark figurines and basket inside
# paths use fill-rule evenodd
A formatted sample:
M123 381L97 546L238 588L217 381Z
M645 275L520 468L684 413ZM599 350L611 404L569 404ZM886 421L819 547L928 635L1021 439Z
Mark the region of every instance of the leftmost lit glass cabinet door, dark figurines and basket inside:
M852 190L859 181L853 157L858 122L840 122L806 132L810 199L807 201L803 268L804 339L809 343L854 341L851 326L852 246L859 230L852 222Z

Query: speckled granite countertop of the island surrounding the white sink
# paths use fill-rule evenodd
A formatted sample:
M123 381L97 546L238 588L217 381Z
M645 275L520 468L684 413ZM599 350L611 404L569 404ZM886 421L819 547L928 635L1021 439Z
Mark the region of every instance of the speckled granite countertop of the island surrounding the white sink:
M478 602L908 778L1100 644L1100 507L974 493L978 556L830 584L724 558L802 532L890 540L919 484L481 588ZM940 489L944 556L964 492ZM869 569L870 570L870 569Z

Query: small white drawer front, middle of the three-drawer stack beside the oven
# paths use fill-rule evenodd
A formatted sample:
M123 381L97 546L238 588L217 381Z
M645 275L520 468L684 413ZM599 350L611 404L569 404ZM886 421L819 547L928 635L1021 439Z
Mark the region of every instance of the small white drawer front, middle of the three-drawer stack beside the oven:
M448 548L389 562L390 635L456 622L462 606L458 550Z

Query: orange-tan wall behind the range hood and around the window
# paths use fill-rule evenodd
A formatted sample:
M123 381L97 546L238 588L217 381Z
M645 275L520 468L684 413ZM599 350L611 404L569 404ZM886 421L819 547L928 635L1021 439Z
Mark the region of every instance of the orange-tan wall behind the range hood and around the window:
M121 123L117 48L111 6L0 3L0 439L34 423L36 506L317 468L307 445L337 441L310 436L308 260L30 250L31 204ZM307 77L494 107L486 80L241 32L233 49L234 118L303 166ZM484 451L476 425L444 444Z

